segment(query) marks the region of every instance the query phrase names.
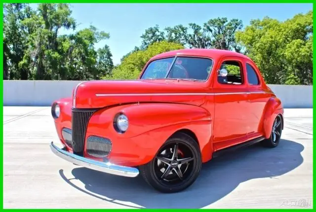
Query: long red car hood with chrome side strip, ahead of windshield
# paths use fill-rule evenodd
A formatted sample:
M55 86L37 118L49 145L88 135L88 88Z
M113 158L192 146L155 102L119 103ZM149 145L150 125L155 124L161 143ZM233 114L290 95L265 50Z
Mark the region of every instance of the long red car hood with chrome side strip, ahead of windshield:
M201 105L207 92L202 82L183 80L99 80L74 90L76 108L102 108L137 102L171 102ZM74 96L73 96L74 98Z

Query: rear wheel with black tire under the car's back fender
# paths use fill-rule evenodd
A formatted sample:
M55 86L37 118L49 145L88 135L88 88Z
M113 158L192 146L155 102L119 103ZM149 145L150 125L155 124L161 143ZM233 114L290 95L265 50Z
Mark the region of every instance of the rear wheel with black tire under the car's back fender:
M280 115L276 116L273 122L270 138L261 141L261 145L268 148L275 148L280 142L282 134L282 118Z

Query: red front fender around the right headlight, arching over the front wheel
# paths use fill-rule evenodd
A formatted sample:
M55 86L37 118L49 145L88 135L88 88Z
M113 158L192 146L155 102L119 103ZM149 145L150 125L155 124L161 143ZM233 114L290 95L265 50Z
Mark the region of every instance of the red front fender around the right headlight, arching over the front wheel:
M118 113L128 118L129 127L125 133L118 133L113 126ZM210 113L194 105L141 103L105 108L90 118L86 139L90 135L110 139L112 152L109 159L112 162L138 166L149 162L162 144L181 129L196 135L202 160L209 160L212 151Z

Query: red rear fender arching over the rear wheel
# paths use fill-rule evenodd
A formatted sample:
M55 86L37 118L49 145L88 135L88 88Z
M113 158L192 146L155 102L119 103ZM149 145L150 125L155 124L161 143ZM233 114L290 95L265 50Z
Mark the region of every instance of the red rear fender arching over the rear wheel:
M265 107L263 117L262 117L262 131L265 138L269 138L271 136L271 130L273 126L273 122L276 119L277 115L281 115L282 118L282 127L283 127L283 106L281 100L277 97L271 97Z

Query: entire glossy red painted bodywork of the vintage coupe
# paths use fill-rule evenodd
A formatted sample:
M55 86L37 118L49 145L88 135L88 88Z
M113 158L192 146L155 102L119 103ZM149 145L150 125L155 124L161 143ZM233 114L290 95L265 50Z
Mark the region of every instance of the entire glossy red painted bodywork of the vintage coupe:
M149 162L161 145L176 131L190 130L200 147L202 162L212 158L214 151L255 139L270 137L273 121L283 115L282 104L268 88L253 61L241 54L223 50L177 50L153 57L204 57L213 60L210 76L205 82L175 79L89 81L80 84L75 94L76 108L96 108L85 135L95 135L112 141L110 162L124 166L139 166ZM246 62L259 77L260 85L220 84L217 70L223 61L242 64L247 79ZM144 67L144 69L146 68ZM63 144L61 130L71 128L73 99L56 101L61 116L55 119L56 130ZM113 120L124 113L129 120L125 133L118 133ZM66 144L65 144L66 145ZM72 152L71 148L67 149ZM84 151L84 157L89 157Z

